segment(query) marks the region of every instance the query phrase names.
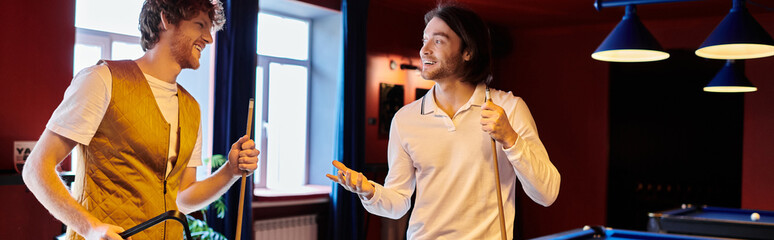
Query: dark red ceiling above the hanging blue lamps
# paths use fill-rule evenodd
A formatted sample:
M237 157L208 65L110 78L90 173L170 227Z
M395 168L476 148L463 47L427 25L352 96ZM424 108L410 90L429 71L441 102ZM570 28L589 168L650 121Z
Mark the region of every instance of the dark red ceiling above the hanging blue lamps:
M386 3L396 10L423 14L437 0L372 0ZM546 27L575 24L618 22L623 7L609 7L597 11L593 0L456 0L471 8L486 21L512 27ZM382 5L380 4L380 5ZM774 0L747 1L753 13L774 12ZM637 6L643 21L695 17L722 17L731 9L731 0L696 0Z

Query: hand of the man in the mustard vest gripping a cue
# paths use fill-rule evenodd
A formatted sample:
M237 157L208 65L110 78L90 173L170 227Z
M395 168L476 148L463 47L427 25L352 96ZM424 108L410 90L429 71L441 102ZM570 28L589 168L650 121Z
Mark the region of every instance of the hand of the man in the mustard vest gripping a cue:
M242 173L250 175L258 168L258 154L261 151L255 149L255 142L248 138L247 135L242 136L231 145L231 150L228 152L228 165L230 166L229 172L235 177L241 177Z

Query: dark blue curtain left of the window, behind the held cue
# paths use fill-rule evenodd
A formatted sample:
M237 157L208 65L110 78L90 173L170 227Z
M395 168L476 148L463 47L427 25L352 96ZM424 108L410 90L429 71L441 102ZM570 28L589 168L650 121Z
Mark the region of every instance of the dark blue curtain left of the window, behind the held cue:
M231 144L245 134L247 108L255 96L256 41L258 26L257 0L226 0L223 2L226 25L217 33L215 49L215 109L213 112L213 154L228 155ZM202 83L204 84L204 83ZM252 133L251 133L252 134ZM252 136L252 135L251 135ZM253 177L245 185L242 239L252 239ZM223 195L226 216L217 218L210 207L207 223L228 239L236 237L240 182Z

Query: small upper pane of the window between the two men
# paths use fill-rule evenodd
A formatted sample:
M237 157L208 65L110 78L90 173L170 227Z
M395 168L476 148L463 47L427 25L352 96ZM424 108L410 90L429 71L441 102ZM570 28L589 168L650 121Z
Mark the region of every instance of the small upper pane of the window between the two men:
M276 15L258 13L258 54L307 60L309 23Z

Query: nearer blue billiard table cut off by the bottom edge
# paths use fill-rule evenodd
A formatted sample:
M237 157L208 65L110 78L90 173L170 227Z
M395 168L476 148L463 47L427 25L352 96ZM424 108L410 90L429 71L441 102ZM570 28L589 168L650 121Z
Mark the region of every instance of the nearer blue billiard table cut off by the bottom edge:
M566 232L560 232L533 238L532 240L584 240L584 239L608 239L608 240L706 240L716 239L710 237L686 236L667 233L652 233L622 229L604 228L601 226L584 227Z

